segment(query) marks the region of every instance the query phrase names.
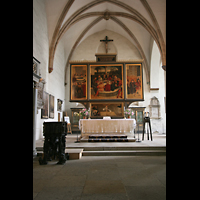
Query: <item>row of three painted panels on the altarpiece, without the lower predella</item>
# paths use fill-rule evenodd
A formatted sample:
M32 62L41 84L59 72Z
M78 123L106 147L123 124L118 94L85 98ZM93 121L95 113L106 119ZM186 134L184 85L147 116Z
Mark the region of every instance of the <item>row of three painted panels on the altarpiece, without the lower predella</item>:
M74 63L70 101L144 101L141 63Z

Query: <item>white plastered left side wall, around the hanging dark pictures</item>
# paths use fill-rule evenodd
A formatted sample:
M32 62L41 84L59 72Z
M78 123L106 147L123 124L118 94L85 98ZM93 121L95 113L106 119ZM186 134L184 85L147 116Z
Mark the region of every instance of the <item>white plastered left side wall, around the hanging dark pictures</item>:
M65 55L62 42L57 46L54 57L54 70L48 72L49 40L45 3L43 0L33 1L33 56L40 61L41 77L45 79L44 91L54 96L54 119L41 119L41 109L37 113L36 140L43 137L43 122L58 121L57 99L63 100L65 108L64 69ZM62 117L62 112L59 112Z

